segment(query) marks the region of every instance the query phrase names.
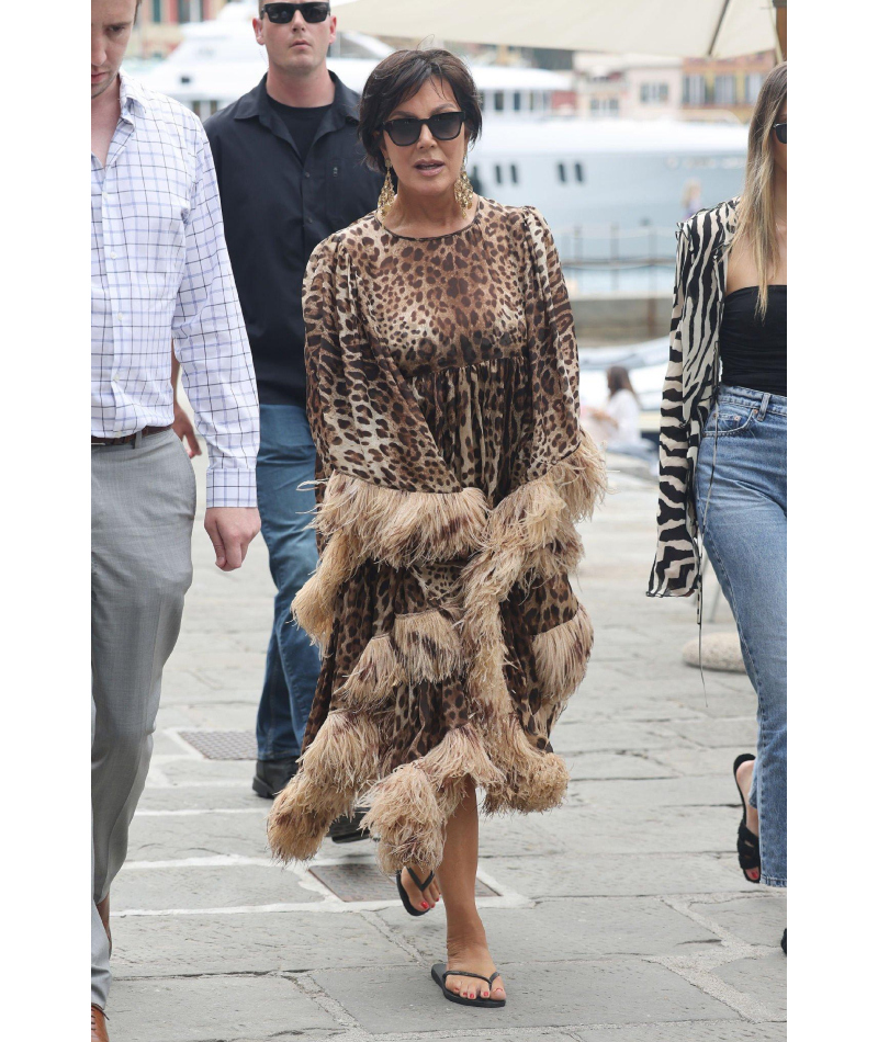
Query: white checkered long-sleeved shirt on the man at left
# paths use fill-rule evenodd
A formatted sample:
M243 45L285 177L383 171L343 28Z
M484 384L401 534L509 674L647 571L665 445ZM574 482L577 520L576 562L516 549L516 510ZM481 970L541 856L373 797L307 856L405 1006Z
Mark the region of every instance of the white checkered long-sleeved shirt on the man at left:
M91 433L173 421L171 341L207 441L207 506L256 506L259 401L200 120L120 75L106 166L91 157Z

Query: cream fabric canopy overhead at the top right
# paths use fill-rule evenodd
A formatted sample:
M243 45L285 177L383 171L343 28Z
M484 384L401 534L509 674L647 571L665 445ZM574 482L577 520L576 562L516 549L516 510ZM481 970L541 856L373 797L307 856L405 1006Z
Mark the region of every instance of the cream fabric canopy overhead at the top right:
M772 0L333 0L341 32L730 58L777 46Z

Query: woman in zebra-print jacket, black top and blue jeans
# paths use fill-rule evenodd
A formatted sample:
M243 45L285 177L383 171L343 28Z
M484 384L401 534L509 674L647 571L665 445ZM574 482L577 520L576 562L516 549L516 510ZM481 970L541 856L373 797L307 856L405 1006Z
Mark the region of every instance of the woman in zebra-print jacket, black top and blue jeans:
M679 226L648 590L700 597L700 537L758 699L757 756L734 763L738 850L769 886L787 884L786 110L783 64L756 102L742 195Z

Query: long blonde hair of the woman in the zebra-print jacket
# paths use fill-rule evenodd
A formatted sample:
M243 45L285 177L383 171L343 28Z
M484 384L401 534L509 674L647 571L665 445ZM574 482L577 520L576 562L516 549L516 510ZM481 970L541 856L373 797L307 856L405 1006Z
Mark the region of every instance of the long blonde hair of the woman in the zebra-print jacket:
M756 262L759 297L757 312L765 317L768 307L768 280L778 262L775 227L774 125L787 101L787 63L776 66L762 84L747 136L747 167L744 191L738 206L738 224L732 245L747 240Z

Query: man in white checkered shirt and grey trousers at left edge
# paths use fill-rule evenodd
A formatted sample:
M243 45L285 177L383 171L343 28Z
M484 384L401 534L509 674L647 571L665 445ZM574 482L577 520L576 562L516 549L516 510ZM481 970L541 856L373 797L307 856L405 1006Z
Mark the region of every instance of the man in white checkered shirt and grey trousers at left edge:
M171 343L207 442L204 525L239 568L259 531L259 405L198 117L120 73L139 0L91 3L92 1039L106 1039L110 884L192 578L195 477Z

